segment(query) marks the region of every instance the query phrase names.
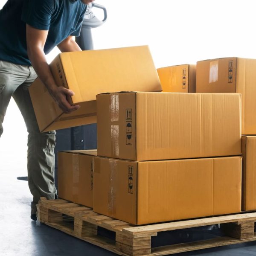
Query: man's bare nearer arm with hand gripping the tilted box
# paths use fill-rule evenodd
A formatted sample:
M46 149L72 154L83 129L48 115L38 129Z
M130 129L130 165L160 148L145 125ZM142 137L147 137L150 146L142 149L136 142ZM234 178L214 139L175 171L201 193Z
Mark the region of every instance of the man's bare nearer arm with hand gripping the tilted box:
M38 77L45 84L47 90L58 103L62 111L64 111L64 113L71 113L77 110L79 105L70 105L67 101L67 97L73 96L73 91L62 86L58 87L52 77L44 53L44 45L47 35L48 30L35 29L28 24L26 25L26 41L29 60Z

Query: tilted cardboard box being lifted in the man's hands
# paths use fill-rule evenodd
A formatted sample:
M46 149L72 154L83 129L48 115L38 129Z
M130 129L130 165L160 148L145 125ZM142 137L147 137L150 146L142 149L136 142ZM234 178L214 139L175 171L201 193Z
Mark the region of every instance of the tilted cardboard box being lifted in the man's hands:
M75 93L78 111L65 114L40 79L30 86L41 132L96 122L96 94L122 90L161 91L157 70L147 46L60 53L50 64L58 86Z

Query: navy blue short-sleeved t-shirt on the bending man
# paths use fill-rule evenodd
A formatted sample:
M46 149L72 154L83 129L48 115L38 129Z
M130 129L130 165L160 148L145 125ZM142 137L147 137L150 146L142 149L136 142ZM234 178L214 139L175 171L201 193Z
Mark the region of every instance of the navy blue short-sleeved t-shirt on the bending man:
M0 60L31 65L26 23L49 30L45 54L69 35L79 36L86 7L80 0L8 0L0 10Z

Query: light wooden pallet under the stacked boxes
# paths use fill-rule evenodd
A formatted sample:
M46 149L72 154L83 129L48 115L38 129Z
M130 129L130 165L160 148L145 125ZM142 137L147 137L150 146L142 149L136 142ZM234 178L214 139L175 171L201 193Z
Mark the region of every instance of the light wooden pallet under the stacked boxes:
M256 241L256 233L254 233L256 212L134 226L97 214L91 208L66 200L41 198L38 213L42 223L123 256L160 256ZM226 236L151 248L151 237L157 236L158 232L213 224L221 224ZM115 240L99 236L98 227L115 232Z

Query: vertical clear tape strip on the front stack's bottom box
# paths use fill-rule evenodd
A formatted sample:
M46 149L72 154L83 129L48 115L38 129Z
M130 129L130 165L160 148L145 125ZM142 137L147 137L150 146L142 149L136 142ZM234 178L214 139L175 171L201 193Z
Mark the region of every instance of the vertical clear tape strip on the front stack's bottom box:
M110 166L109 191L108 191L108 212L116 213L116 166L117 162L114 159L108 160Z

